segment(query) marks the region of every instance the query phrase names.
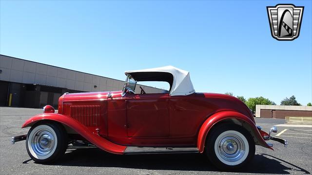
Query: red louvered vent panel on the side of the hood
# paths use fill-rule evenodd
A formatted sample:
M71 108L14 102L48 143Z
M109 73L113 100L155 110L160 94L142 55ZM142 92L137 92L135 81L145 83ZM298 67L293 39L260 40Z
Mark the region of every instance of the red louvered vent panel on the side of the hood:
M71 105L70 117L85 126L99 126L100 105Z

